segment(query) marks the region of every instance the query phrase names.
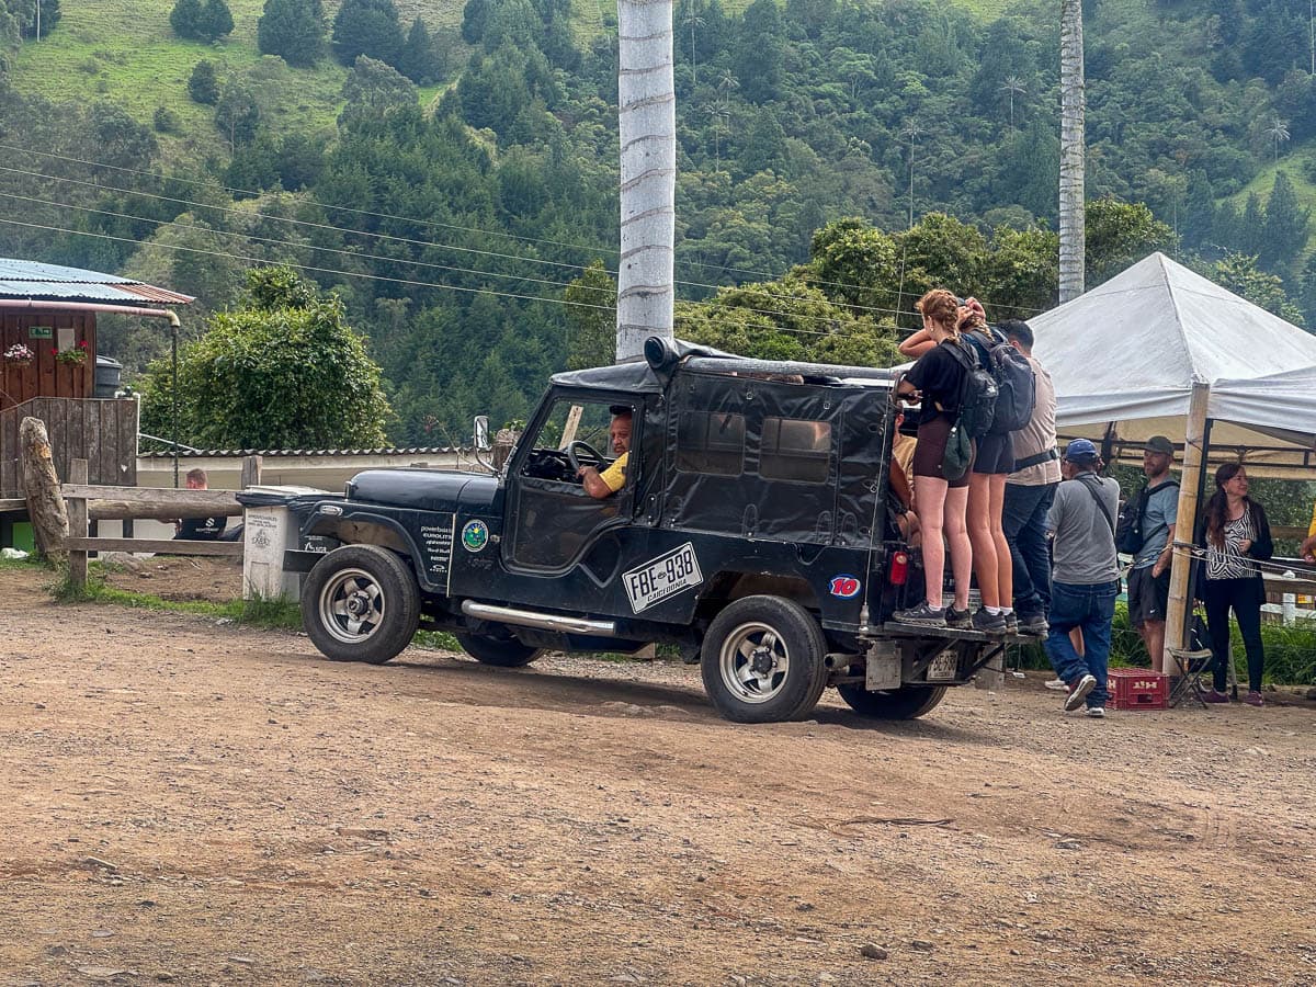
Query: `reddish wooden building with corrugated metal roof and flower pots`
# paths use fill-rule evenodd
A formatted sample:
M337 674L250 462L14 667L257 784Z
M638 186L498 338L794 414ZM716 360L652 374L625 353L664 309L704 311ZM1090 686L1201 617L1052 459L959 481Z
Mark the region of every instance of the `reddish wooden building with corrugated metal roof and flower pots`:
M91 483L137 482L136 399L96 387L96 315L163 318L187 295L75 267L0 258L0 499L22 496L18 425L46 422L55 468L88 461Z

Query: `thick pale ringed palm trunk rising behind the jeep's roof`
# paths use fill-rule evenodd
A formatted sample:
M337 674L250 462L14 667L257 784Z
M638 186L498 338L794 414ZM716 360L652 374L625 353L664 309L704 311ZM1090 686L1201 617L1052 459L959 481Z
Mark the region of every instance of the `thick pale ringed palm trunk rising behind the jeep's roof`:
M617 362L650 336L672 337L676 234L676 93L672 0L617 0L621 259Z

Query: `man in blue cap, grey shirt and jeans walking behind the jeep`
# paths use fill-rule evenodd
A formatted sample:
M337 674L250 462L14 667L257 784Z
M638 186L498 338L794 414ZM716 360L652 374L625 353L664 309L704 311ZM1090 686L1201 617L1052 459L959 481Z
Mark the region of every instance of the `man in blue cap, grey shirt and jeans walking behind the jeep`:
M1065 480L1046 515L1046 530L1054 538L1046 657L1069 686L1065 711L1086 705L1094 719L1105 716L1105 663L1120 592L1115 554L1120 484L1100 476L1100 466L1095 445L1086 438L1071 441L1061 461ZM1082 655L1070 641L1074 628L1083 632Z

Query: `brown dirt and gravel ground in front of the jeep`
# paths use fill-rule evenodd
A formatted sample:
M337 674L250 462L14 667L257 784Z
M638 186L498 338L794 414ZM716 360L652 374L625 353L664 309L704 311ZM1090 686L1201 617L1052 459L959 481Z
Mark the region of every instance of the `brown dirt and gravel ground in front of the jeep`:
M1316 982L1305 708L736 726L683 666L333 665L36 582L0 984Z

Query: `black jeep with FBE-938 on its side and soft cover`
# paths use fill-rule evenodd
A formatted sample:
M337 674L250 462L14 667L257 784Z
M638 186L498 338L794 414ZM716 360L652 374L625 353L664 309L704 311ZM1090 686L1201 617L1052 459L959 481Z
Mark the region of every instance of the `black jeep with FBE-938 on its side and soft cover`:
M645 357L554 376L499 475L370 470L307 504L303 540L340 546L301 594L316 647L379 663L442 629L520 666L671 644L742 722L804 717L826 686L865 716L921 716L1003 654L887 622L923 592L888 503L887 371L657 338ZM578 470L607 465L624 409L625 483L595 499Z

